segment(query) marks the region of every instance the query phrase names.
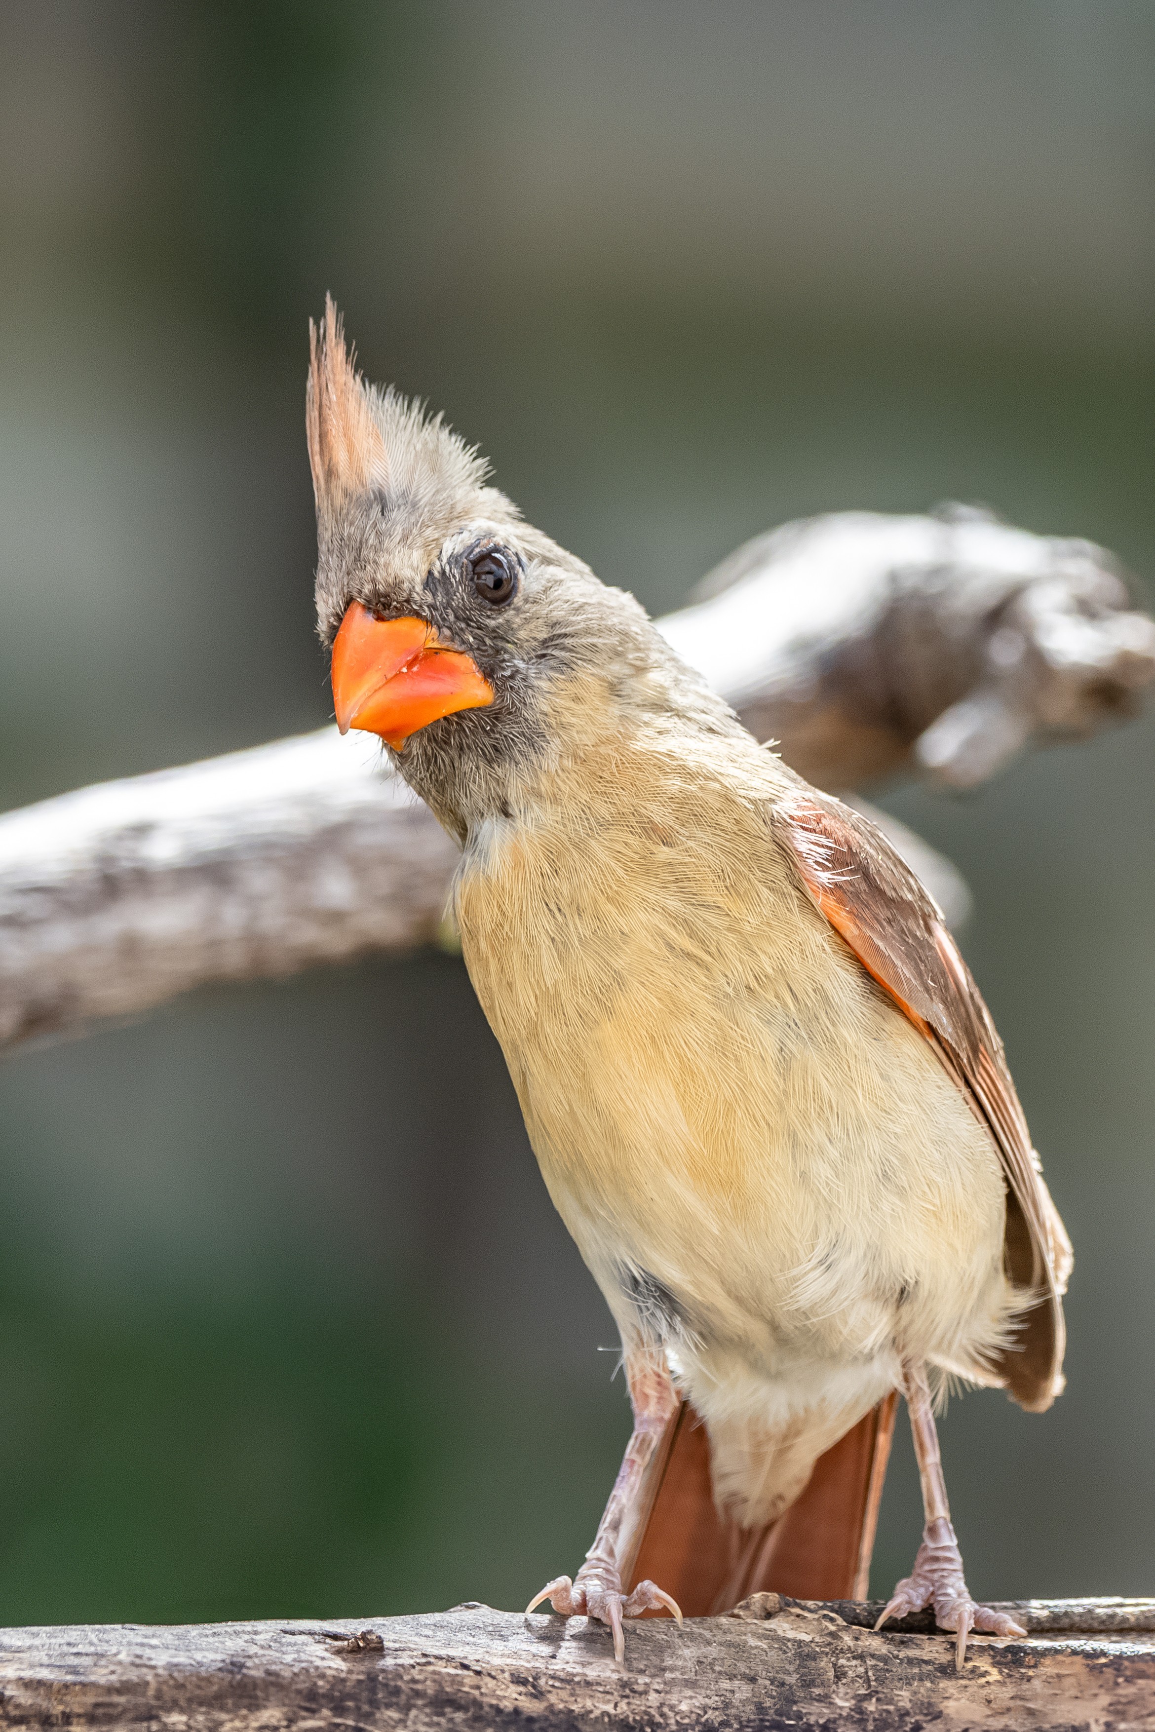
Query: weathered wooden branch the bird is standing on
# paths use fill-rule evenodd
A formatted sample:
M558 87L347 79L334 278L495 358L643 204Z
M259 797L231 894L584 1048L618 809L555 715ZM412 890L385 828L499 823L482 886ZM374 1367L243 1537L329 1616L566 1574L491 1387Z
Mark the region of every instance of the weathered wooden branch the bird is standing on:
M1016 1604L1032 1633L975 1637L961 1673L944 1635L862 1628L833 1607L758 1595L729 1618L629 1630L627 1663L584 1618L483 1606L326 1623L0 1632L0 1725L452 1729L694 1727L989 1732L1155 1725L1155 1604ZM1108 1630L1103 1618L1131 1619ZM1055 1621L1067 1632L1056 1638ZM1037 1626L1037 1632L1036 1632Z

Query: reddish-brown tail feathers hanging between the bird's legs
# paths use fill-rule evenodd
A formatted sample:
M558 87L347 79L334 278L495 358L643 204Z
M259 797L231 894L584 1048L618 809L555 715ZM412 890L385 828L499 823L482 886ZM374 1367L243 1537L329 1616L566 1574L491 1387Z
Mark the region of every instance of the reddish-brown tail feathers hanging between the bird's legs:
M826 1450L784 1514L741 1528L719 1514L707 1427L684 1401L625 1587L649 1576L687 1618L731 1611L762 1592L866 1599L895 1405L888 1394Z

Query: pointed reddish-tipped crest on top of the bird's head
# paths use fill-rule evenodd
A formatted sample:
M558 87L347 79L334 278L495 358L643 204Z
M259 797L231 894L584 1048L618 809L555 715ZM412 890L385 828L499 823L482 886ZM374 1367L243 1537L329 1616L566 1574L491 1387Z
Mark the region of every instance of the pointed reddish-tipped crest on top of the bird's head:
M362 379L331 294L320 327L308 320L305 430L317 516L365 494L428 509L481 487L488 468L440 416Z

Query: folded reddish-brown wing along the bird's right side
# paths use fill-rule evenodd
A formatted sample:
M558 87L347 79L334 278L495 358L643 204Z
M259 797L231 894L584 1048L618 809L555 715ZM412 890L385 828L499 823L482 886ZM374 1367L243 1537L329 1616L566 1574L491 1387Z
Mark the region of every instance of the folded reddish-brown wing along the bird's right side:
M1006 1069L1003 1043L942 914L883 833L812 788L786 795L774 828L831 927L935 1048L987 1124L1008 1185L1006 1268L1037 1294L997 1370L1022 1406L1048 1408L1063 1387L1070 1242Z

